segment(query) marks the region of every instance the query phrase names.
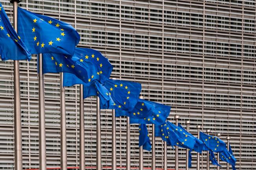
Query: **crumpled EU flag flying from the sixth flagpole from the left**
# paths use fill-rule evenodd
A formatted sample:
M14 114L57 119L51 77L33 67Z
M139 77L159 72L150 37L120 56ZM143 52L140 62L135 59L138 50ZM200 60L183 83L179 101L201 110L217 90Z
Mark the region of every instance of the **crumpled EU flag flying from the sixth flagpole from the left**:
M150 104L147 100L138 99L135 107L131 111L116 110L115 116L129 116L134 119L144 119L146 117L152 116L154 111L154 106Z

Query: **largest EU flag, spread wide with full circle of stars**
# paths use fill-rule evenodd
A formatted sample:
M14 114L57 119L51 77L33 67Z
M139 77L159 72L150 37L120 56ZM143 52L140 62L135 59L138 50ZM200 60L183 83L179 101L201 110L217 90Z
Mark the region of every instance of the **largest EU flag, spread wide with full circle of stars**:
M18 7L18 33L31 54L72 56L80 36L69 24Z

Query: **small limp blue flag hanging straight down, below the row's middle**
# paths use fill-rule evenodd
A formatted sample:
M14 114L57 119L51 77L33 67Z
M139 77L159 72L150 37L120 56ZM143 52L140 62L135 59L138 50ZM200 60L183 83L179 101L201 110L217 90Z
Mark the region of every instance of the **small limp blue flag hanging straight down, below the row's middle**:
M149 139L147 125L139 124L139 147L143 146L143 149L150 151L151 143Z

